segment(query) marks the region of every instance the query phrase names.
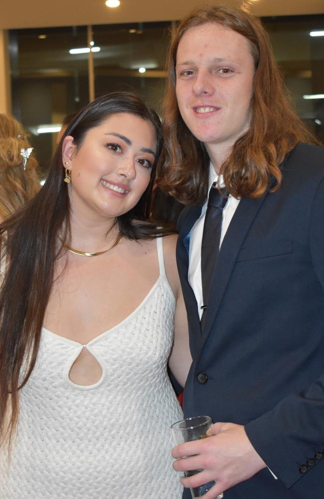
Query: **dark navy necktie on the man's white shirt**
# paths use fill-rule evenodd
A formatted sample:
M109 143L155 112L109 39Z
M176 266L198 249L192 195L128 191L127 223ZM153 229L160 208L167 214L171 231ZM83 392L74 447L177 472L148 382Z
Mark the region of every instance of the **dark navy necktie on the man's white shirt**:
M203 328L211 279L214 273L219 253L220 235L223 220L223 208L226 205L227 192L216 187L214 182L209 190L207 211L205 215L202 241L201 241L201 283L203 309L201 316L201 329Z

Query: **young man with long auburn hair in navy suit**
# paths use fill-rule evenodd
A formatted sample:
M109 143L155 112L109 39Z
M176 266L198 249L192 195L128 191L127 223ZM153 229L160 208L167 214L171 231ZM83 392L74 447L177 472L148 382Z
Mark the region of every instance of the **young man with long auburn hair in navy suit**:
M324 150L251 14L196 8L168 72L160 185L189 205L177 246L193 358L184 415L215 422L173 449L174 469L202 470L186 488L215 481L205 499L322 499Z

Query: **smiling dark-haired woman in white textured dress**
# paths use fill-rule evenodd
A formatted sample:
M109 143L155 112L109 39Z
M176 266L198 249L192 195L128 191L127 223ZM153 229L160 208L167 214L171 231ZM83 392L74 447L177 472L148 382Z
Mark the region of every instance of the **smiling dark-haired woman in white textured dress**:
M137 97L95 100L33 202L0 226L6 499L181 497L166 362L183 384L186 319L175 236L148 221L161 145Z

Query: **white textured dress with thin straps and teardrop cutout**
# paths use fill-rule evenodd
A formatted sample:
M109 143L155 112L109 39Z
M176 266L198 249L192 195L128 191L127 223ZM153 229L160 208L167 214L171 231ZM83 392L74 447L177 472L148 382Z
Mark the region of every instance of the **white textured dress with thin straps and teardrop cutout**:
M160 276L137 309L85 347L94 385L69 371L83 345L46 329L20 392L11 461L0 448L1 499L180 499L170 425L182 417L166 373L175 299L162 239Z

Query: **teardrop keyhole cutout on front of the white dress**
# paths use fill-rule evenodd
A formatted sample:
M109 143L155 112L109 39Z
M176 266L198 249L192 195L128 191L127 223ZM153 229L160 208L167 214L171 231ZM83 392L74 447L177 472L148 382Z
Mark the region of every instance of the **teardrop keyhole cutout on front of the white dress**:
M69 372L70 380L76 385L89 386L97 383L101 377L101 365L84 346L80 355L72 364Z

